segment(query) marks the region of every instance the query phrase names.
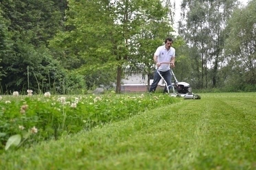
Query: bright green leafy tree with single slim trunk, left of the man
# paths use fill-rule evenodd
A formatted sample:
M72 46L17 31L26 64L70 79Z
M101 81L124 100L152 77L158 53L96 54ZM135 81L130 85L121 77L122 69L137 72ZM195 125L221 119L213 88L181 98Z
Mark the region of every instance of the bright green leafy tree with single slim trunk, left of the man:
M66 26L52 42L82 65L115 65L116 93L121 90L122 68L127 63L132 39L141 34L146 19L167 14L159 0L69 1ZM86 39L85 39L86 37Z

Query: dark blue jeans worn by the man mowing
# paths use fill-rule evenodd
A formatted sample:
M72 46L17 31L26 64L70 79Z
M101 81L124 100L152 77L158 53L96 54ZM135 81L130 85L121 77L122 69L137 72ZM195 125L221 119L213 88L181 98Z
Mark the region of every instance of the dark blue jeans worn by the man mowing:
M167 70L167 71L159 71L159 73L162 75L162 77L165 79L165 81L167 82L167 86L171 85L171 71L170 70ZM160 75L157 73L157 71L155 70L155 74L154 74L154 81L153 83L151 84L150 86L150 90L149 92L155 92L156 91L156 87L157 87L157 84L159 83L159 81L161 80L162 78L160 77ZM165 89L164 89L164 93L165 92L168 92L167 89L166 89L166 86L165 86Z

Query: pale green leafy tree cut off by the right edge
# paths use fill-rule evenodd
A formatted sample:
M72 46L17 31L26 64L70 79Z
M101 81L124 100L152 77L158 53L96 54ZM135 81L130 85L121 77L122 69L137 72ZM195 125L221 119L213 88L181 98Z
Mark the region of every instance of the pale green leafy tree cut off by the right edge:
M249 1L243 9L236 9L227 24L226 55L235 55L236 63L244 67L247 83L256 83L256 1Z

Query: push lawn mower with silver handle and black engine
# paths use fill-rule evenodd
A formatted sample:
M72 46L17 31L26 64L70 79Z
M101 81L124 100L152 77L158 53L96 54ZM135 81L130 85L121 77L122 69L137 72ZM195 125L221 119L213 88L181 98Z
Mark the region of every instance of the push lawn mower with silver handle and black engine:
M164 63L171 64L171 65L173 64L172 62L161 62L159 64L164 64ZM175 79L175 82L174 83L171 82L171 85L169 85L169 86L167 86L167 82L160 74L157 66L156 66L156 71L160 75L160 77L164 80L166 89L171 96L183 97L184 99L201 99L200 95L192 93L192 88L190 87L189 83L178 82L172 69L170 71L171 71L171 75ZM172 93L170 93L170 89L172 90ZM177 90L177 92L175 91L175 89Z

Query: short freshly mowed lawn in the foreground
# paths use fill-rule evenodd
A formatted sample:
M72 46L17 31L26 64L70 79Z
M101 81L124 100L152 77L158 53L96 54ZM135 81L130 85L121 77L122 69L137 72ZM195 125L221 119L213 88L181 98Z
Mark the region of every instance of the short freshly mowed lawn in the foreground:
M0 156L0 169L256 169L256 93L208 93Z

